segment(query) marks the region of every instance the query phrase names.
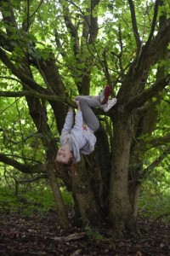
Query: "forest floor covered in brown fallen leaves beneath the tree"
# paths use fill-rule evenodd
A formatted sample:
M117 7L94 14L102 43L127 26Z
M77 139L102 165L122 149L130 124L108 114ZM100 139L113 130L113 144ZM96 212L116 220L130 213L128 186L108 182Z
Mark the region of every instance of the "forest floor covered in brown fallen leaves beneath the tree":
M0 255L59 256L164 256L170 255L170 226L161 219L139 219L141 236L125 234L113 239L104 226L99 232L90 228L59 229L55 212L35 213L24 217L20 213L0 211Z

